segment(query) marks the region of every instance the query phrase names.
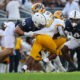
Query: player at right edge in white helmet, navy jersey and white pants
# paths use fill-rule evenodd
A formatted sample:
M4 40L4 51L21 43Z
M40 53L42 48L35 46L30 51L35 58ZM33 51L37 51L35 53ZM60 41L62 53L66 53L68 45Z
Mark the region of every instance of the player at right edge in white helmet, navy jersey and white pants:
M79 47L80 45L80 12L73 10L69 14L69 19L66 20L65 24L65 30L71 35L70 40L64 43L64 46L62 48L62 53L65 55L66 59L69 61L70 65L73 68L76 68L73 64L73 61L71 60L69 56L69 50L75 49Z

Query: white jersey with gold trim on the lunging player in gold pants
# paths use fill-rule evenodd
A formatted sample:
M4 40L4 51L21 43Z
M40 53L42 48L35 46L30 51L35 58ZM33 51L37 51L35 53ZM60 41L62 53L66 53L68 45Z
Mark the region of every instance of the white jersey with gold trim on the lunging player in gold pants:
M54 36L54 34L58 33L58 27L62 26L65 27L65 23L63 20L60 19L54 19L53 23L50 27L45 27L41 30L33 32L34 34L43 34L43 35L49 35L51 37Z

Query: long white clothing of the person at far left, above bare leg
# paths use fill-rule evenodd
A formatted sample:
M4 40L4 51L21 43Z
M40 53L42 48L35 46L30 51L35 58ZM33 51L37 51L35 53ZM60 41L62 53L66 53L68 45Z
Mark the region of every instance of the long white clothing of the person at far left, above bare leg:
M5 48L15 47L15 36L14 36L15 24L13 22L7 23L5 29Z

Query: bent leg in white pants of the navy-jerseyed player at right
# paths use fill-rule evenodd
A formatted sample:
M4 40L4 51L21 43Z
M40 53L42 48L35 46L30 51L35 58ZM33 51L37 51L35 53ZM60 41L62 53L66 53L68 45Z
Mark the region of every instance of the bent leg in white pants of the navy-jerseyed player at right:
M70 55L69 55L69 50L70 49L74 49L78 46L79 44L74 40L74 39L71 39L70 41L66 42L62 48L62 53L63 55L65 56L65 58L67 59L67 61L70 63L70 65L73 67L73 68L76 68L75 65L73 64L73 61L72 59L70 58Z

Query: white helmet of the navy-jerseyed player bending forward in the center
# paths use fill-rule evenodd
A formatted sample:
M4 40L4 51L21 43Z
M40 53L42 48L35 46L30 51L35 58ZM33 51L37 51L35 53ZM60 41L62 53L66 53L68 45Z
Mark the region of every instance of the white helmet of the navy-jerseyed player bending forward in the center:
M43 25L43 26L46 25L46 18L41 13L35 13L32 16L32 21L34 22L34 24L35 24L36 27L39 27L39 25Z

